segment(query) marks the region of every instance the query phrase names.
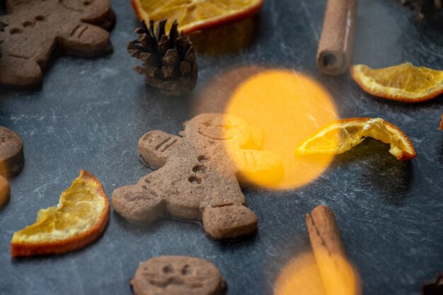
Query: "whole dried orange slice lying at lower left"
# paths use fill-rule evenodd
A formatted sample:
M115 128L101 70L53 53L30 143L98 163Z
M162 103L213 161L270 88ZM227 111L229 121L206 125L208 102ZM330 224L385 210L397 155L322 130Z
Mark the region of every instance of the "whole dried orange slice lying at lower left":
M105 230L109 201L100 181L80 171L57 207L40 209L35 224L13 234L11 256L61 254L94 241Z

